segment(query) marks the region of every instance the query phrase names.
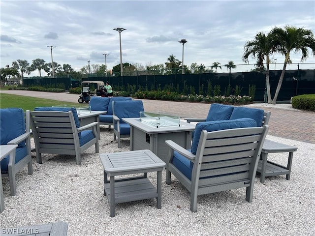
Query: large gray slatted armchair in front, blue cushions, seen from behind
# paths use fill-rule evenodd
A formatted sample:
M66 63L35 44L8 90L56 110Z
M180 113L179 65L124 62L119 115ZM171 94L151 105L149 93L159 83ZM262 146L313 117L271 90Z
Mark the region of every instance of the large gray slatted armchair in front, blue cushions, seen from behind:
M250 118L199 122L191 150L171 140L166 183L171 173L189 190L190 210L197 210L197 196L246 187L252 202L254 178L268 125L255 127ZM218 130L218 131L216 131Z

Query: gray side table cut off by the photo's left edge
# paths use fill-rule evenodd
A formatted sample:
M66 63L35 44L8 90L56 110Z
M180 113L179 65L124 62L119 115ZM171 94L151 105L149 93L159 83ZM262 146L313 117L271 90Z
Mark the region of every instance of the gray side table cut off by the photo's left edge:
M13 163L15 162L15 149L16 147L18 147L16 144L14 145L0 145L0 161L6 157L7 155L9 155L9 163ZM15 175L15 173L12 173L13 175ZM14 178L15 179L15 178ZM12 184L10 183L10 185L15 186L15 182L13 182ZM12 189L12 186L10 186L10 188ZM1 177L1 167L0 167L0 212L2 212L4 210L4 199L3 199L3 188L2 188L2 177Z

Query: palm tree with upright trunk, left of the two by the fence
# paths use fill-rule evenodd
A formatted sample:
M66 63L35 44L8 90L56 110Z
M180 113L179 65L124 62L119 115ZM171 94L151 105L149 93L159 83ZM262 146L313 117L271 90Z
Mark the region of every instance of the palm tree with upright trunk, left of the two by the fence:
M244 46L243 61L249 63L249 57L252 55L253 58L257 59L257 68L264 67L264 60L266 59L266 88L268 103L271 103L271 94L270 94L270 82L269 82L269 62L270 55L273 53L273 42L271 40L272 35L266 34L264 32L259 32L256 34L254 40L247 41Z

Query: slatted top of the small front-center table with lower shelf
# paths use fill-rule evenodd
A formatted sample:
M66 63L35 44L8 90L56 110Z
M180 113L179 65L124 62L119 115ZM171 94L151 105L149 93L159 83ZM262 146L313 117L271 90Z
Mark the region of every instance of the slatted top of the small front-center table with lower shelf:
M163 170L165 162L150 150L122 151L99 154L106 173Z

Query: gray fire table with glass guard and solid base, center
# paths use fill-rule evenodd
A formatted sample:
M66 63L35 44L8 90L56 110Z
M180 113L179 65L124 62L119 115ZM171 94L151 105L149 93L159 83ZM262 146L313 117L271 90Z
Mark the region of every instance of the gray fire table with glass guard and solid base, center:
M183 148L191 148L191 134L195 124L181 122L180 126L155 127L140 118L123 118L130 125L130 150L150 149L167 162L168 146L165 140L173 140Z

